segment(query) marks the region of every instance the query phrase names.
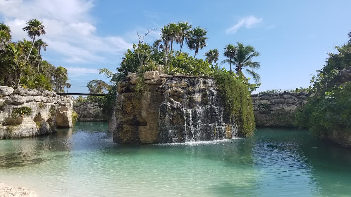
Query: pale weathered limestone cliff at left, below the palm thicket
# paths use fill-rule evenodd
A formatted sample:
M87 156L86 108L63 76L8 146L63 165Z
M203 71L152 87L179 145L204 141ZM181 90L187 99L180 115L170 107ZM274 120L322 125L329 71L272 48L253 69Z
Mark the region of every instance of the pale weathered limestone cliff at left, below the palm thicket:
M53 133L72 127L73 100L44 89L0 86L0 138Z

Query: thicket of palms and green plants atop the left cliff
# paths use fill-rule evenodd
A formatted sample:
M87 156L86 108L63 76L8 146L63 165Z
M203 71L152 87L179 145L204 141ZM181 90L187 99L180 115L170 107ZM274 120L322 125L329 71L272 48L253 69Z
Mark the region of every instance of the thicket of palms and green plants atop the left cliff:
M44 88L64 91L68 80L67 69L53 66L42 59L41 51L48 44L37 37L44 35L45 25L37 19L22 28L31 40L12 41L11 28L0 23L0 85L18 88Z

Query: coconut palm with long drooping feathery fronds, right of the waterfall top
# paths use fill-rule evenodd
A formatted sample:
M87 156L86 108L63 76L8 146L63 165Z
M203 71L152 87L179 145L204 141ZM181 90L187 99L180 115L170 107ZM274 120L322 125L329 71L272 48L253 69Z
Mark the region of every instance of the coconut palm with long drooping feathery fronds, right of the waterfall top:
M260 62L253 62L252 58L260 55L259 52L255 51L252 46L244 46L243 43L237 42L237 53L233 59L226 59L221 64L234 64L236 66L235 72L237 75L243 74L243 69L252 76L256 83L260 81L260 75L253 70L247 69L260 69Z

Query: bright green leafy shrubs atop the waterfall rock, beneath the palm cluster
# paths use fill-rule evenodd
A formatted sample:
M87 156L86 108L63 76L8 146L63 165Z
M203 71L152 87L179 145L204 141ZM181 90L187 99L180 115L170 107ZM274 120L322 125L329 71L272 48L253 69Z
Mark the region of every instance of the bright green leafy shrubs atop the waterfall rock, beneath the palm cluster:
M203 59L195 59L189 56L188 53L177 52L176 56L172 58L170 66L167 66L166 73L168 74L186 74L186 75L212 75L213 69L211 69L208 61Z

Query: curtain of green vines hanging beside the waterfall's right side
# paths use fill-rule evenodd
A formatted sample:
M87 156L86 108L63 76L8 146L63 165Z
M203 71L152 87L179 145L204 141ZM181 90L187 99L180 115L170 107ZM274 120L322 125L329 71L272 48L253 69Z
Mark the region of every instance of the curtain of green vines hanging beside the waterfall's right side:
M213 76L224 97L226 110L229 111L231 117L238 117L238 122L241 122L239 135L253 135L255 122L247 85L240 78L233 77L228 72L218 71Z

